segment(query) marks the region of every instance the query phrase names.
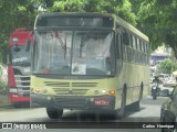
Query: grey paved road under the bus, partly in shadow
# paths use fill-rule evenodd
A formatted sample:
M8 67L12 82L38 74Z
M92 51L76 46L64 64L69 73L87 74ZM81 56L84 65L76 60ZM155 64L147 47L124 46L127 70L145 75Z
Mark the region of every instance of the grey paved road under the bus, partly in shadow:
M143 100L142 110L139 112L127 111L125 118L122 120L115 120L111 113L95 114L92 111L70 111L65 110L64 116L60 120L49 119L44 108L38 109L1 109L0 121L29 121L29 122L61 122L61 121L113 121L113 122L126 122L126 121L159 121L160 105L165 101L166 97L158 97L157 100L153 100L152 97L147 97Z

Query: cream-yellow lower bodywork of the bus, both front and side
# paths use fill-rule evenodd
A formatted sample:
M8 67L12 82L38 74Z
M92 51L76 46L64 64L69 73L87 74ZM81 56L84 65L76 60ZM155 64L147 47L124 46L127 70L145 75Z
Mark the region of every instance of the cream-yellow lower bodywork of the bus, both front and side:
M131 69L132 73L128 72L129 68L132 68ZM146 76L148 76L148 68L146 66L138 66L138 72L136 69L137 69L136 64L129 66L129 64L124 63L124 68L117 78L110 78L110 79L105 78L105 79L97 79L97 80L96 79L88 79L88 80L55 79L54 80L54 79L39 78L35 76L32 76L31 77L31 82L32 82L31 97L35 98L33 100L34 102L40 100L40 97L41 97L41 100L45 99L45 101L49 101L48 98L51 98L53 95L55 95L56 98L60 98L60 97L71 98L71 101L72 101L72 98L75 98L75 97L86 98L86 99L87 98L96 99L96 97L103 96L103 99L105 100L107 98L114 97L115 100L111 99L110 101L115 102L114 107L111 106L112 110L115 110L121 107L124 84L127 85L126 105L131 105L138 101L142 82L144 82L143 97L146 97L149 94L148 79L146 78ZM142 74L140 73L142 70L146 70L146 72ZM52 87L52 84L53 84L53 87ZM70 84L70 85L65 85L66 87L64 87L63 85L60 86L60 84ZM81 88L77 88L79 86L71 87L71 84L77 84L77 85L81 84L79 85ZM86 87L84 87L84 84L86 85ZM74 90L77 90L77 94ZM85 92L82 92L84 90ZM102 90L105 90L106 94L102 94ZM116 94L114 96L110 96L110 90L115 90ZM70 92L73 92L73 94L70 95ZM98 92L98 94L95 94L95 92ZM40 96L40 95L43 95L43 96ZM42 103L44 105L46 102L42 102ZM37 107L37 102L34 106ZM74 108L71 108L71 109L74 109Z

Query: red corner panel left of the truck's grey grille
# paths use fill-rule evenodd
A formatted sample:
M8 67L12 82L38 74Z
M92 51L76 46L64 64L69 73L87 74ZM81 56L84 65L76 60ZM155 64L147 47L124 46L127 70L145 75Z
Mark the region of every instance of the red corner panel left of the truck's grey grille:
M10 88L15 88L15 79L12 66L9 66L8 68L8 81Z

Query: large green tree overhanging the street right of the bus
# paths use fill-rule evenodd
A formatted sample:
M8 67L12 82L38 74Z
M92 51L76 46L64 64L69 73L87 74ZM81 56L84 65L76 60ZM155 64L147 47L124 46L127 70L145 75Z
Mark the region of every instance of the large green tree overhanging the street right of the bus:
M134 0L132 4L137 26L149 36L152 50L166 44L177 57L177 1Z

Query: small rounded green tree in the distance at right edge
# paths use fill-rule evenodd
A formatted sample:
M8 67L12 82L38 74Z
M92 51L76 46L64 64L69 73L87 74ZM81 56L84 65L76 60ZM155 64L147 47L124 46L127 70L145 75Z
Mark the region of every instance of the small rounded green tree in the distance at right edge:
M167 58L158 65L157 73L171 74L171 72L176 69L177 69L177 64L175 64L170 58Z

